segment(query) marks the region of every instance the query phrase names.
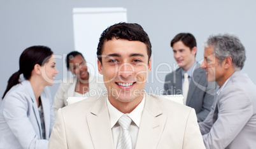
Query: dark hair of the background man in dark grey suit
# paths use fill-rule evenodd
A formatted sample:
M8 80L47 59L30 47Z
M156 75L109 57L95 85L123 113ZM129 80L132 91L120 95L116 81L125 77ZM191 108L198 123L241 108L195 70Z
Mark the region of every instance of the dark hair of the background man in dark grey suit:
M180 34L177 34L172 40L171 40L171 47L173 47L173 44L182 41L182 43L185 46L188 46L190 50L196 46L196 38L190 34L190 33L185 33L181 32Z

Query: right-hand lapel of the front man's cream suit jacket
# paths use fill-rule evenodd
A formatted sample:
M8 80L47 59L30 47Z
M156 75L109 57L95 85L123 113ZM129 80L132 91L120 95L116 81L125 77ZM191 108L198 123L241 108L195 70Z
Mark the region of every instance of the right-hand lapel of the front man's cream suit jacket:
M157 148L166 119L153 97L146 95L136 148Z

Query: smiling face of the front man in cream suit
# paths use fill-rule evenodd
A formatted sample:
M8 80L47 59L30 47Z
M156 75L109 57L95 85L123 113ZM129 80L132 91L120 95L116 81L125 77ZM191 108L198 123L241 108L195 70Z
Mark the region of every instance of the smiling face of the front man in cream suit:
M143 99L151 60L145 43L111 39L103 46L102 63L97 61L111 103L128 103ZM140 101L139 101L140 102Z

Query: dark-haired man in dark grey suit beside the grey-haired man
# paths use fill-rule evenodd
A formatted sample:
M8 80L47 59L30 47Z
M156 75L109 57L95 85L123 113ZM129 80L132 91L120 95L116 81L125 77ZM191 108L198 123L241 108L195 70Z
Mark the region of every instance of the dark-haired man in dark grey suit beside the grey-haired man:
M183 94L184 104L194 108L198 122L202 122L211 110L215 83L207 82L204 69L196 61L196 39L192 34L177 34L171 40L171 47L179 68L166 75L164 94ZM186 75L188 80L184 78Z

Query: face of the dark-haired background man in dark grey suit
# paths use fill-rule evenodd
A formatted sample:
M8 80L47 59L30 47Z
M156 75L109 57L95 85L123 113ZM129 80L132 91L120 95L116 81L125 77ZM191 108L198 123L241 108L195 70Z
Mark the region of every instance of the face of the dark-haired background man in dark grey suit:
M187 71L195 62L196 46L190 50L190 48L183 44L182 41L178 41L173 44L173 56L178 66Z

